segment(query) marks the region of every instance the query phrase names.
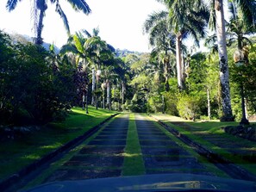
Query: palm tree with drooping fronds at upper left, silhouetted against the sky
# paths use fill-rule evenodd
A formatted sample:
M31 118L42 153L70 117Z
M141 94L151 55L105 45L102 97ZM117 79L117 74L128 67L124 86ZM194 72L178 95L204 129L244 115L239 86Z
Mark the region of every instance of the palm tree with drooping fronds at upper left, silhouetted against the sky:
M21 1L21 0L20 0ZM16 9L16 5L19 2L19 0L8 0L6 4L6 9L10 12L14 9ZM64 22L64 26L66 28L67 34L70 34L70 28L67 21L66 14L64 13L63 9L61 8L59 4L59 0L50 0L51 3L53 3L56 6L55 11L60 15L60 18ZM84 0L68 0L68 3L72 5L72 8L76 11L82 10L84 14L88 15L91 13L91 9L88 6L88 4ZM31 6L33 9L33 13L31 15L31 18L34 19L34 32L36 34L36 37L34 38L34 43L37 45L41 45L43 43L43 39L41 37L41 32L43 29L43 18L46 14L47 10L47 0L34 0L31 1ZM39 11L39 14L38 14ZM38 18L39 16L39 18Z

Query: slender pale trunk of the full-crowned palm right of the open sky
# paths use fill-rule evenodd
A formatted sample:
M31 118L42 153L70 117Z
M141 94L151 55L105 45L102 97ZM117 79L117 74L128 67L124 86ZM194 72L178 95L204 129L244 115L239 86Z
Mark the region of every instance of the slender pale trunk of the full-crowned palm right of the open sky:
M178 33L176 36L176 67L177 67L177 78L178 78L178 88L184 90L183 83L183 71L182 71L182 55L181 55L181 34Z

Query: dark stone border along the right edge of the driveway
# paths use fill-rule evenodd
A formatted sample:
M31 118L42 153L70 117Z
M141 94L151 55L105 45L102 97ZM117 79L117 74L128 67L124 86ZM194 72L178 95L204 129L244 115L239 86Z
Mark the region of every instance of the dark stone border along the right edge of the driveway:
M207 158L209 162L215 164L219 169L224 170L230 177L233 177L235 179L242 179L242 180L248 180L248 181L256 181L256 177L249 173L247 170L244 170L240 166L232 163L227 158L223 158L221 155L209 151L209 149L205 148L204 146L196 143L192 139L188 138L186 135L179 133L178 130L168 126L163 121L159 121L157 118L153 117L152 115L149 115L152 117L155 121L159 123L162 127L165 127L167 131L172 133L175 137L183 141L186 145L192 146L195 148L195 151L202 155L203 157Z

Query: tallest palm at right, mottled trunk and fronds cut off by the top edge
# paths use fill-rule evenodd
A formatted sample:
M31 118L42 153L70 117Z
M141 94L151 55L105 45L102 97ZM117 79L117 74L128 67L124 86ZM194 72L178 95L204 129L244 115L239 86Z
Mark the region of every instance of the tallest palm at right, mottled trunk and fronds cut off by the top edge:
M247 25L253 25L255 28L255 7L256 3L254 0L233 0L232 2L237 3L243 14L243 21ZM212 0L211 3L211 19L210 25L215 29L217 35L217 45L220 60L220 80L222 90L222 118L221 121L234 121L232 114L231 99L230 99L230 88L229 88L229 72L228 72L228 53L227 53L227 41L225 33L225 20L224 20L224 9L223 0ZM250 24L251 23L251 24Z

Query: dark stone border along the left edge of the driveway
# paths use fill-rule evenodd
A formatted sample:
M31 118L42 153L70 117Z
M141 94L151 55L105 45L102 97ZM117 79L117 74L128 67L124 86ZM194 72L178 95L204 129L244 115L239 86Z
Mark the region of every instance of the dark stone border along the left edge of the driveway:
M29 164L22 170L19 170L12 176L4 179L3 181L0 182L0 191L4 191L6 189L9 189L14 183L19 183L22 180L22 177L28 176L29 173L32 171L38 169L43 164L46 164L48 161L52 160L55 158L59 153L61 152L67 152L71 150L72 148L78 146L80 142L82 142L84 139L88 139L91 137L92 134L97 133L97 131L105 124L107 121L115 117L116 115L119 115L120 113L116 113L114 115L110 115L107 119L99 123L97 126L92 127L90 130L85 132L83 135L78 136L75 139L72 139L71 141L67 142L64 146L60 146L58 149L56 149L53 152L49 152L47 155L43 156L42 158L34 161L34 163Z

